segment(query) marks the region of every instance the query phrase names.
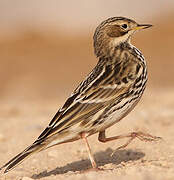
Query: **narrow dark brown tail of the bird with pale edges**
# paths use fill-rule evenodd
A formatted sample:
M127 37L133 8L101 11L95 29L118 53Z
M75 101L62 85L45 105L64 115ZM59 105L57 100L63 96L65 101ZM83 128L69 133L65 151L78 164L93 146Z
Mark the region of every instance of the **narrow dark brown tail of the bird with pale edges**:
M30 157L32 154L44 150L45 146L46 146L45 144L33 143L31 146L27 147L24 151L19 153L13 159L7 162L4 166L2 166L0 170L6 168L4 173L7 173L8 171L12 170L13 168L21 164L25 159Z

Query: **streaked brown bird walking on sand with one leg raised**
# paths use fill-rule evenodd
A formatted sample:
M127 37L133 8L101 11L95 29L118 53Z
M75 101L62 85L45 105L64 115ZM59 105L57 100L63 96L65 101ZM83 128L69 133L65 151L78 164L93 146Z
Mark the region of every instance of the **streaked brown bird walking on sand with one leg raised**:
M106 129L118 123L134 109L147 82L147 65L140 50L131 44L137 31L150 28L126 17L110 17L99 24L93 36L98 59L89 75L71 93L48 126L33 144L1 167L9 172L36 152L52 146L84 140L93 169L99 169L88 137L98 133L100 142L121 138L156 141L159 137L142 131L106 137Z

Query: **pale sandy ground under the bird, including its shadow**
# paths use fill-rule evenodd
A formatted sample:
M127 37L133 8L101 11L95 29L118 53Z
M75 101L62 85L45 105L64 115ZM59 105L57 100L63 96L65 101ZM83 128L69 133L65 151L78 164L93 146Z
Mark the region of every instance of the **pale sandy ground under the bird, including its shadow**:
M34 155L3 180L21 179L174 179L174 93L173 89L148 89L136 109L120 123L108 129L107 135L119 135L142 130L163 140L141 142L134 140L126 149L112 152L125 140L103 144L97 135L89 138L97 164L103 171L84 172L90 168L82 140L53 147ZM11 103L10 103L11 104ZM44 106L43 106L44 104ZM61 102L60 102L61 104ZM54 114L57 101L1 102L0 157L1 164L31 144Z

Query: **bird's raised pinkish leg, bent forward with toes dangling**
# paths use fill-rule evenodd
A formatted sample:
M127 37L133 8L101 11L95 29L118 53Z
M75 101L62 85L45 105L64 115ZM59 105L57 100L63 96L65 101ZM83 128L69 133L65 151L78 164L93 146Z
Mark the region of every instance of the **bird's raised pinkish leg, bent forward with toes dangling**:
M150 135L148 133L144 133L144 132L141 132L141 131L131 132L131 133L128 133L128 134L119 135L119 136L113 136L113 137L109 137L109 138L107 138L105 136L105 131L101 131L101 132L99 132L99 136L98 136L98 140L100 142L103 142L103 143L108 142L108 141L113 141L113 140L116 140L116 139L122 139L122 138L129 138L129 140L124 145L118 147L116 150L125 148L135 138L138 138L141 141L146 141L146 142L147 141L157 141L157 140L161 139L160 137L152 136L152 135Z

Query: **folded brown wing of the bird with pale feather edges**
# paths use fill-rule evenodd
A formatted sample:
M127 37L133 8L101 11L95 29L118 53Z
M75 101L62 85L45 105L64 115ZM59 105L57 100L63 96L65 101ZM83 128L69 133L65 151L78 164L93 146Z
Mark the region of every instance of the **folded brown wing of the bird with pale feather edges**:
M94 70L59 109L37 141L68 129L85 119L89 120L102 108L127 94L132 81L135 80L136 67L131 68L132 70L130 67L126 69L121 63L103 65L99 61ZM129 82L126 79L128 75Z

